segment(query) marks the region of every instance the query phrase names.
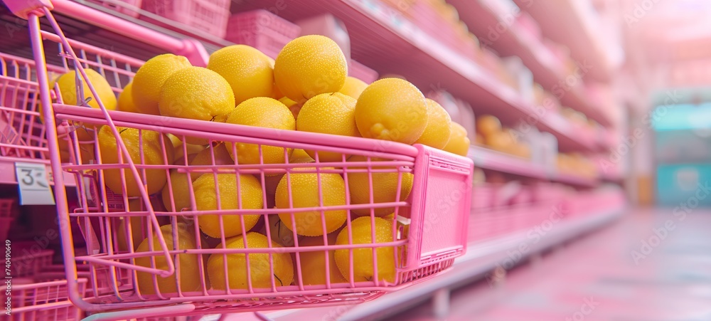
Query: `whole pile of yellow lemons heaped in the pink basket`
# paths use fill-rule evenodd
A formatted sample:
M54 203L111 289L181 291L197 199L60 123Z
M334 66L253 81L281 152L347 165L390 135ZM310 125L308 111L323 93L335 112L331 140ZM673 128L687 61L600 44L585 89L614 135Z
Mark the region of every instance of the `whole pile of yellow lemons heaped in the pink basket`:
M424 98L415 85L406 80L384 78L367 85L347 76L346 57L338 45L324 36L302 36L289 42L272 60L255 48L236 45L222 48L210 56L207 68L196 67L182 56L164 54L146 61L139 68L132 83L123 88L117 102L104 100L109 109L147 115L187 118L210 122L266 127L277 130L296 130L350 137L365 137L405 144L425 144L437 149L466 155L469 139L466 130L451 122L447 112L437 102ZM94 82L98 88L108 83ZM71 86L67 86L68 88ZM108 87L110 89L110 87ZM100 89L104 90L104 89ZM103 91L102 91L103 92ZM64 94L63 94L64 95ZM110 103L107 103L109 101ZM92 106L96 107L96 106ZM319 162L362 162L365 157L333 152L317 152L282 147L260 147L242 142L208 144L201 137L187 137L186 142L173 135L163 135L133 128L119 128L119 135L127 145L134 162L147 165L210 165L210 164L283 164ZM109 127L97 131L101 162L119 162L116 137ZM188 151L187 153L183 151ZM236 152L236 153L235 153ZM186 159L185 154L191 154ZM83 157L83 155L82 155ZM304 172L299 169L289 175L267 174L264 186L261 176L252 174L203 174L177 172L173 169L146 169L144 181L137 182L129 171L105 169L103 179L114 193L140 196L140 189L149 194L160 194L167 211L185 209L214 211L218 209L263 209L267 197L276 209L314 208L346 205L346 181L350 204L370 204L404 201L412 189L412 174L397 172L341 174ZM237 184L239 179L239 184ZM170 183L169 183L170 181ZM398 184L400 181L400 184ZM289 186L290 184L290 186ZM370 191L373 184L373 191ZM239 190L237 190L239 186ZM400 189L398 190L398 186ZM292 195L289 193L292 191ZM191 199L191 194L194 198ZM322 194L322 195L321 195ZM373 197L371 201L370 197ZM265 197L267 196L267 197ZM269 203L269 201L267 201ZM140 206L139 206L140 207ZM134 210L134 209L132 209ZM351 211L352 243L387 243L393 241L393 207ZM321 211L279 211L269 219L272 247L348 244L346 210L330 210L321 220ZM261 215L200 215L178 224L178 244L173 244L173 227L161 228L170 248L180 250L205 247L196 231L205 234L215 248L267 248L267 233L256 229ZM374 220L374 221L373 221ZM129 221L129 220L125 220ZM124 223L125 223L124 221ZM221 223L220 223L221 222ZM130 220L132 231L145 236L141 225ZM373 223L373 225L371 225ZM195 225L191 225L195 224ZM135 226L139 225L139 226ZM197 226L197 227L196 227ZM372 228L375 240L371 240ZM299 236L293 239L295 231ZM262 232L262 233L260 233ZM125 233L119 231L119 235ZM214 242L222 240L224 242ZM132 238L135 251L158 251L157 238ZM125 242L127 236L123 235ZM152 244L152 248L149 247ZM210 243L210 242L208 242ZM129 248L125 244L124 248ZM271 288L296 284L294 254L254 253L249 256L252 288ZM378 266L373 267L372 248L353 250L353 264L348 250L305 251L299 262L305 285L326 284L326 260L330 263L330 282L343 283L373 280L395 280L395 250L392 246L377 248ZM214 289L247 288L247 260L244 254L214 254L205 258L206 267L200 268L196 254L180 254L178 275L157 278L161 293L175 293L175 278L180 278L182 291L201 290L200 270L206 271L206 283ZM159 256L137 259L138 265L166 268ZM162 260L162 261L161 261ZM225 275L224 266L228 273ZM351 266L353 269L351 270ZM139 290L155 292L154 275L139 273Z

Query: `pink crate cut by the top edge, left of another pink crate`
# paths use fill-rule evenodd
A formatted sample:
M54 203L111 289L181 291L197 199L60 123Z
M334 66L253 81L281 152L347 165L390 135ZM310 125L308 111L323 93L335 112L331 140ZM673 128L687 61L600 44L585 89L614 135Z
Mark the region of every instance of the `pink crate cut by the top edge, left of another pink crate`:
M230 0L143 0L143 9L224 38L230 17Z

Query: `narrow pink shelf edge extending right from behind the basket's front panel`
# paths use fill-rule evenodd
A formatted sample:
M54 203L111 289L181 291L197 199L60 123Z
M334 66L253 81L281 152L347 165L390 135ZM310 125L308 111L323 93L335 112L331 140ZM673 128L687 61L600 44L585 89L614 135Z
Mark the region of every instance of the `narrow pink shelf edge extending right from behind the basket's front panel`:
M540 164L534 164L528 159L497 152L485 147L469 147L468 156L474 160L475 167L490 169L496 172L515 174L534 179L547 179L582 187L592 187L599 184L597 179L580 177L574 174L557 173L553 169L547 169Z

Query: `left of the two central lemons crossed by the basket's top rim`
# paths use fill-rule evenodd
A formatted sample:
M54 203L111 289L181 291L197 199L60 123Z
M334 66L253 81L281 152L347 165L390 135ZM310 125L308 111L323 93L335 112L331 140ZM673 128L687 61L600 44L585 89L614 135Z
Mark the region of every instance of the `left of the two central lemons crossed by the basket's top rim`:
M277 130L296 130L296 121L289 108L275 100L267 97L257 97L245 100L235 107L227 119L230 124L247 125ZM230 156L234 144L228 143ZM292 149L287 149L287 157L292 153ZM264 164L284 163L284 148L262 145L262 157ZM257 144L237 143L237 162L239 164L260 164L260 149Z

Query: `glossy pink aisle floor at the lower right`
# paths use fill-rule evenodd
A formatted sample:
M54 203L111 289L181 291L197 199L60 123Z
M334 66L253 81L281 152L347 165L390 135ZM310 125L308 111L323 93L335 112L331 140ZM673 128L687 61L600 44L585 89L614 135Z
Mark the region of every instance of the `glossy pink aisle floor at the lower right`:
M709 226L708 209L634 211L501 285L456 290L440 320L711 320ZM437 317L424 304L393 320Z

